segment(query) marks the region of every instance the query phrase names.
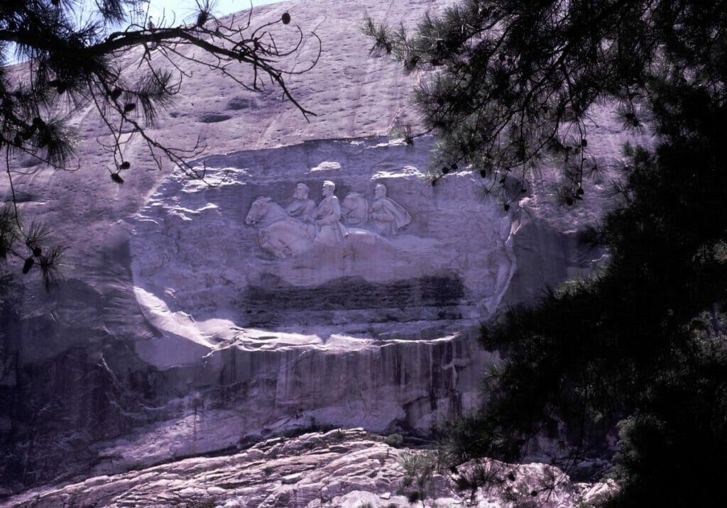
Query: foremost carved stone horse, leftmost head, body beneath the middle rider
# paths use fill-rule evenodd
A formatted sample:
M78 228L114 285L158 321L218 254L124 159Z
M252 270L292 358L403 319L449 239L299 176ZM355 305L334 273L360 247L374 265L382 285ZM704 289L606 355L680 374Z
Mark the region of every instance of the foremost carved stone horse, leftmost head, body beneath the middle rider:
M257 243L260 248L279 259L310 250L316 240L314 225L289 217L273 198L257 198L250 206L245 224L258 228ZM393 251L391 244L377 233L356 227L346 228L343 245L345 257L367 257L379 249Z

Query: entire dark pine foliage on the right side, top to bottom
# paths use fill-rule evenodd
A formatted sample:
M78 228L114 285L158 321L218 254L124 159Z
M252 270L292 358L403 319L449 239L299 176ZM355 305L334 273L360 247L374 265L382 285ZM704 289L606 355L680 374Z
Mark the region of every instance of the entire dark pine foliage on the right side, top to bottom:
M610 504L713 504L727 481L727 2L467 0L412 33L364 30L425 71L417 103L446 166L525 177L557 156L576 204L593 105L655 134L624 147L620 206L583 234L608 265L483 331L505 360L455 455L517 460L549 437L564 467L613 460Z

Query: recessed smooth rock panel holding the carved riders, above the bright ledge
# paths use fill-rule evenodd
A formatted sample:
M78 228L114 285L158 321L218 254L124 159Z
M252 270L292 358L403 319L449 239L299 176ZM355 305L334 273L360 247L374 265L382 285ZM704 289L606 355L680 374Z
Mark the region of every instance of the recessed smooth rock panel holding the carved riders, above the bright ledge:
M205 164L220 185L173 175L134 225L137 286L174 319L421 334L486 319L513 274L516 207L483 201L478 174L425 182L424 151L326 141Z

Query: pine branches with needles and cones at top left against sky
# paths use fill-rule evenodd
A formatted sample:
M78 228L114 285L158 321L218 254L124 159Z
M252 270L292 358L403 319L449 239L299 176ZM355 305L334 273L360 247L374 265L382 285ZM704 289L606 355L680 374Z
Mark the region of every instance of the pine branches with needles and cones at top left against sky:
M17 214L12 175L17 157L30 157L58 169L73 161L76 133L63 121L63 112L93 105L108 129L100 140L108 151L111 180L123 184L132 164L124 145L141 137L161 167L172 161L190 177L204 177L186 164L204 149L201 142L177 148L158 142L149 128L158 108L169 105L180 89L185 65L196 63L258 91L277 86L304 116L313 115L293 97L286 78L316 65L286 70L286 59L299 54L312 33L289 25L286 12L275 23L251 25L249 15L218 20L210 0L197 0L196 21L156 23L145 14L148 0L2 0L0 2L0 150L5 159L9 198L0 211L0 262L20 258L23 273L40 267L44 281L55 277L60 249L47 249L45 234L25 225ZM193 7L193 6L188 6ZM89 10L90 9L90 10ZM289 25L292 44L277 44L273 25ZM195 51L187 49L193 47ZM129 65L132 50L140 50ZM24 68L4 67L11 52L26 60ZM126 58L126 60L124 60Z

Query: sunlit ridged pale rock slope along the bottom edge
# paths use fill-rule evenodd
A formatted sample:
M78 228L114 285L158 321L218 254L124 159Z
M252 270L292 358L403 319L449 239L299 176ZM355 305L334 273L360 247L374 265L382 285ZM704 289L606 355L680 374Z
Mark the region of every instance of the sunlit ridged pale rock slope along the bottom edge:
M469 463L456 473L435 467L426 451L391 448L363 430L276 438L245 451L183 459L59 488L28 491L16 507L438 507L586 506L609 484L572 483L544 464ZM497 488L457 488L486 472ZM464 480L464 481L463 481Z

